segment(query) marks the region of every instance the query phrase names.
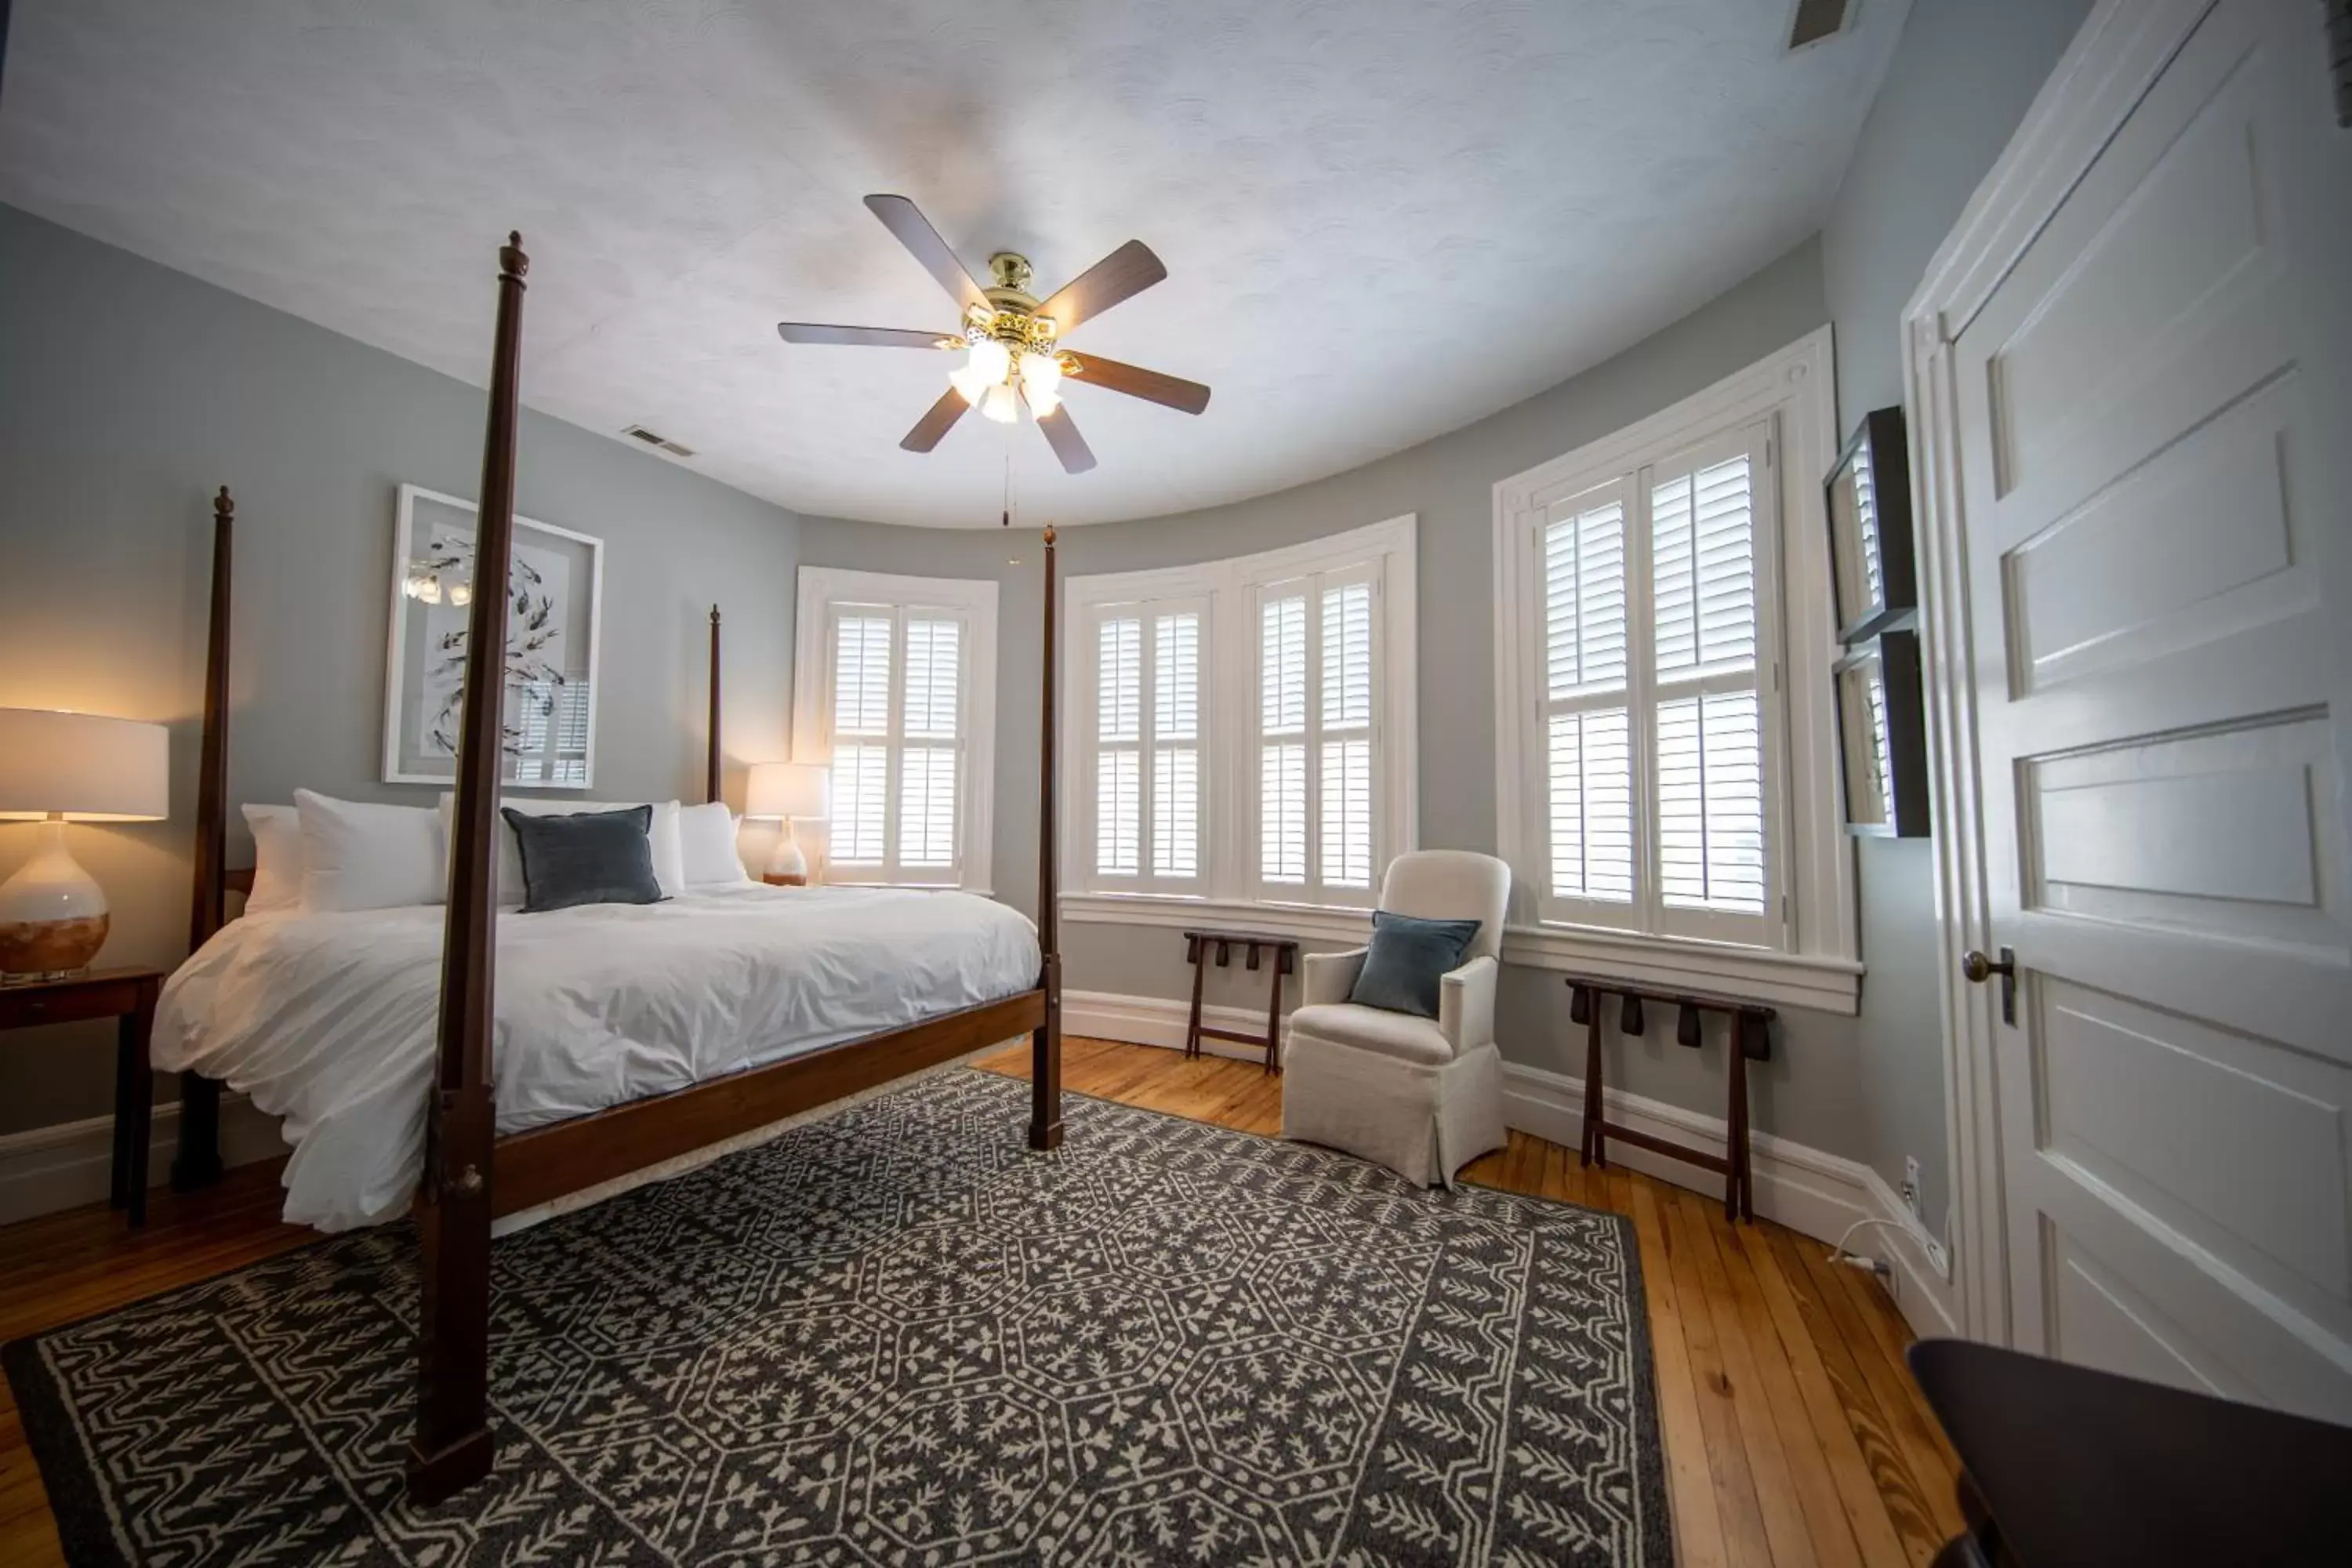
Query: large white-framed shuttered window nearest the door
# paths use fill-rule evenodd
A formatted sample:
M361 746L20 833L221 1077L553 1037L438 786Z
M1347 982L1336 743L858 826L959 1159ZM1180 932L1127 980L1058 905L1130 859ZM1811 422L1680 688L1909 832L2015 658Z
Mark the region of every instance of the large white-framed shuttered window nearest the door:
M1856 1006L1828 334L1496 487L1505 957Z

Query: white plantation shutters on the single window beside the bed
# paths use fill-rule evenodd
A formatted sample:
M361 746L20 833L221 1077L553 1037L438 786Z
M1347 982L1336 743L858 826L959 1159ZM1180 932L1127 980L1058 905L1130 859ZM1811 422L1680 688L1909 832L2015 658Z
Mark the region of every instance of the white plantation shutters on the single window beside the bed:
M833 865L882 882L955 882L964 621L880 604L833 616Z

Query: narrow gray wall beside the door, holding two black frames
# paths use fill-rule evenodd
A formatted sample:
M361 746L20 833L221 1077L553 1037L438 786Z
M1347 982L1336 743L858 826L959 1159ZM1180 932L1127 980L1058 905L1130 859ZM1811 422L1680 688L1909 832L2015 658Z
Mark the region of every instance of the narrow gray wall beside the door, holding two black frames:
M1936 247L2025 118L2089 0L1912 0L1837 207L1820 233L1837 324L1844 425L1903 402L1903 306ZM1943 1037L1936 1016L1936 870L1926 842L1865 839L1860 1147L1886 1185L1903 1157L1924 1168L1929 1227L1943 1234Z

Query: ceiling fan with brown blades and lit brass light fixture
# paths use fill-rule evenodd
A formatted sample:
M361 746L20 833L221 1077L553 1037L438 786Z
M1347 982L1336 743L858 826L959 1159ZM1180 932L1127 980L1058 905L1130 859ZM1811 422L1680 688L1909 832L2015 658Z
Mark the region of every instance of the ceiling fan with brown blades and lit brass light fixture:
M1094 383L1129 397L1200 414L1209 407L1209 388L1181 376L1120 364L1087 355L1084 360L1061 348L1061 339L1087 317L1110 310L1124 299L1134 299L1169 275L1160 256L1141 240L1129 240L1091 268L1065 282L1044 303L1028 294L1028 256L997 252L988 259L995 284L988 287L971 275L938 230L922 216L922 209L903 195L868 195L866 207L882 219L882 226L898 235L898 244L915 254L915 261L941 282L964 317L955 331L913 331L898 327L821 327L814 322L776 322L776 334L786 343L854 343L866 348L946 348L964 355L948 376L931 411L915 421L898 444L908 451L929 451L938 444L964 409L997 423L1021 418L1028 404L1054 447L1054 456L1070 473L1094 468L1094 451L1070 423L1070 409L1061 402L1063 378Z

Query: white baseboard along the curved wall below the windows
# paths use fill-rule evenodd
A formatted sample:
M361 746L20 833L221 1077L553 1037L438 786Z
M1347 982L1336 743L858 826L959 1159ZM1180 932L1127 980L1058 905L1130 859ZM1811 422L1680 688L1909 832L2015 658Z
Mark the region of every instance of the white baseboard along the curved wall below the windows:
M1068 1034L1091 1034L1096 1039L1124 1039L1138 1046L1181 1048L1188 1004L1171 997L1120 997L1112 992L1063 992L1061 1023ZM1263 1030L1265 1013L1237 1006L1204 1006L1202 1023L1228 1030ZM1263 1060L1261 1051L1223 1039L1200 1041L1211 1056L1235 1060ZM1576 1147L1583 1128L1585 1086L1581 1079L1543 1067L1503 1063L1503 1119L1522 1133L1550 1138ZM1609 1091L1609 1119L1649 1133L1689 1143L1710 1154L1724 1152L1724 1121L1703 1112L1682 1110L1663 1100L1630 1095L1623 1088ZM1665 1159L1632 1145L1613 1145L1609 1159L1628 1171L1656 1175L1663 1182L1722 1197L1722 1178ZM1957 1333L1950 1305L1952 1269L1943 1246L1919 1220L1903 1208L1893 1190L1877 1171L1825 1154L1802 1143L1788 1143L1771 1133L1755 1133L1755 1208L1757 1215L1778 1220L1790 1229L1837 1241L1856 1220L1882 1220L1853 1234L1851 1251L1877 1258L1893 1269L1891 1291L1896 1307L1915 1333Z

